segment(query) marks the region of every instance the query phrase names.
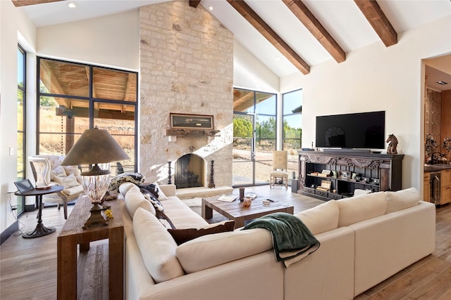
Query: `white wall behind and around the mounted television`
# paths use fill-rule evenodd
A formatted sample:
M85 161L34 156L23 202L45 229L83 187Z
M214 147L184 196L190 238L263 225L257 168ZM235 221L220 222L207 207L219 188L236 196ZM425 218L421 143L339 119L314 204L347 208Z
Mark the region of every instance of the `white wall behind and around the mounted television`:
M398 43L382 42L348 53L343 63L330 60L310 74L280 79L280 92L303 89L302 146L315 141L317 115L385 110L385 135L399 140L404 154L402 187L422 190L424 71L422 59L451 51L451 18L398 34ZM438 28L440 30L438 30Z

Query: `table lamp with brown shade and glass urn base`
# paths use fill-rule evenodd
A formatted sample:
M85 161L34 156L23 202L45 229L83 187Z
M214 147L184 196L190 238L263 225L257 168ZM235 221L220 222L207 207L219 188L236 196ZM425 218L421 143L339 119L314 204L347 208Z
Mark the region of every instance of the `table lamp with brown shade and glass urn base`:
M106 207L101 206L101 200L109 187L110 171L109 168L101 169L99 164L125 159L130 159L130 157L113 136L105 129L96 127L85 130L61 162L63 166L92 165L89 171L82 172L83 190L93 204L91 216L89 216L83 228L100 223L108 224L101 215L101 211L106 209Z

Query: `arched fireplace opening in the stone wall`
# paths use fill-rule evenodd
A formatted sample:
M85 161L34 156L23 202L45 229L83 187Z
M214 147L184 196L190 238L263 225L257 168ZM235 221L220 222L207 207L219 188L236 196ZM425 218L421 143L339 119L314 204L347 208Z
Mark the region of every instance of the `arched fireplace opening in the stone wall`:
M177 188L204 186L204 159L195 154L185 154L175 162L174 180Z

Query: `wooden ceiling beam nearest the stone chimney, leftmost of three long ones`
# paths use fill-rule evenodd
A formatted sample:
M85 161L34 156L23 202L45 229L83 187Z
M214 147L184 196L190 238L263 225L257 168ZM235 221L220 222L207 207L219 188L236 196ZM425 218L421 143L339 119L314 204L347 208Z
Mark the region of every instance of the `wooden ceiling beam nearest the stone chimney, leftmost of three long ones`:
M254 26L258 32L260 32L271 44L273 44L273 46L276 47L277 50L285 56L285 58L288 58L290 63L295 65L295 67L297 67L302 74L309 74L310 66L304 62L304 60L302 60L302 58L298 56L297 53L290 48L290 46L288 46L288 44L285 43L285 41L283 41L283 39L280 38L278 34L276 34L276 32L274 32L274 30L266 24L266 22L264 22L264 20L262 20L259 15L257 15L257 13L245 3L245 1L227 1L247 20L247 22L251 23L251 25Z

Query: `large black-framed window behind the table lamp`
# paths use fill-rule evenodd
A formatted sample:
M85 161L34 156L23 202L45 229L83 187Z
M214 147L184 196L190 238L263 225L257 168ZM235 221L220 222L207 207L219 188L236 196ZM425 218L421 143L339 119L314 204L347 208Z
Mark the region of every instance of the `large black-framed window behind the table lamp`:
M47 58L37 63L39 154L66 155L85 129L97 126L130 156L121 167L136 171L137 73Z

